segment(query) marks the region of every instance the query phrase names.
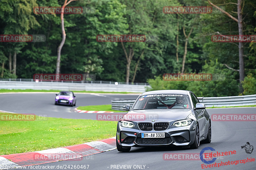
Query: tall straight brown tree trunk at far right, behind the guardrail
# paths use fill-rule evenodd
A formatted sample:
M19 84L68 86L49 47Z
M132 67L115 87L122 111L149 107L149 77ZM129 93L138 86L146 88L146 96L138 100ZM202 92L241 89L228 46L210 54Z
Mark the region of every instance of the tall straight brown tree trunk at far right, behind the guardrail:
M243 35L243 15L241 10L242 0L237 0L237 22L238 22L238 32L239 36ZM242 81L244 81L244 44L239 42L239 91L243 93L244 89L242 86Z

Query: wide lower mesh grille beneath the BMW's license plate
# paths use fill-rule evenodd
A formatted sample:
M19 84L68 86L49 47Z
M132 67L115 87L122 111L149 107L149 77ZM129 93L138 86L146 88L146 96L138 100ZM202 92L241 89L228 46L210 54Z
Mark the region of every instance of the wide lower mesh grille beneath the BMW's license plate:
M137 138L136 143L139 145L166 145L172 143L171 137L165 138Z

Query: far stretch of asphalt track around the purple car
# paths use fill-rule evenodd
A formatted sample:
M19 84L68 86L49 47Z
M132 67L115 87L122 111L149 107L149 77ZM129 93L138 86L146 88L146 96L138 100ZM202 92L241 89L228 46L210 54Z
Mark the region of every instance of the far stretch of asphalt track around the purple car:
M95 113L78 113L78 106L111 104L113 99L136 99L139 95L75 94L76 106L54 105L54 94L0 94L0 110L32 113L43 117L62 117L96 120Z

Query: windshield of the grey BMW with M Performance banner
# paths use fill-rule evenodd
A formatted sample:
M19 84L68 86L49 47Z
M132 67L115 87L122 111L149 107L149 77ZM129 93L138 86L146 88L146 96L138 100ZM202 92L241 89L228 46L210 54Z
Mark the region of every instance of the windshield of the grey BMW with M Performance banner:
M152 94L141 96L134 104L133 110L146 109L190 109L188 95Z

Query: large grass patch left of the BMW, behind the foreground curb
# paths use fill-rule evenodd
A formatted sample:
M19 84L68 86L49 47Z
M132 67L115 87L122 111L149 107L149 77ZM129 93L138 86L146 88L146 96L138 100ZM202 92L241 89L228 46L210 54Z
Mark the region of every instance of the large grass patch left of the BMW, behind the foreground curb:
M0 113L1 116L3 113ZM116 136L115 121L38 117L0 121L0 155L82 144Z

